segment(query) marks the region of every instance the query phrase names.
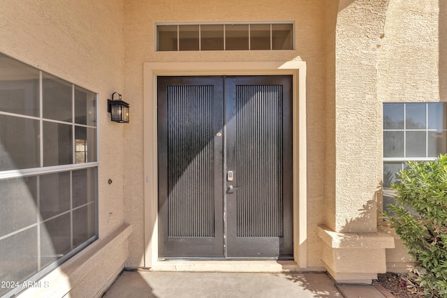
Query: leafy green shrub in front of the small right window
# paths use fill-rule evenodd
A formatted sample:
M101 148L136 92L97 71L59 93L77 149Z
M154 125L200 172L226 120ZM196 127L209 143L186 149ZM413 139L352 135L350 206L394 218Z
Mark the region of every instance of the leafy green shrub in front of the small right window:
M447 297L447 156L407 165L391 186L396 203L383 216L425 268L419 278L425 295Z

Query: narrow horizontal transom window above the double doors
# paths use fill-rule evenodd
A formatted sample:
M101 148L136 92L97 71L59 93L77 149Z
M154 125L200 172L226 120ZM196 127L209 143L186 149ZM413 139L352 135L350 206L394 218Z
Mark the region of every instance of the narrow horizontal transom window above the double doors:
M156 51L293 50L293 22L156 24Z

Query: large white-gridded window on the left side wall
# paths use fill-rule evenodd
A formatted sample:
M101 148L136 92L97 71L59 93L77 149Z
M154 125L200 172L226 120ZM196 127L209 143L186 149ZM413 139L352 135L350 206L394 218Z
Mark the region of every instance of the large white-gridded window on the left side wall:
M97 239L96 98L0 54L0 297Z

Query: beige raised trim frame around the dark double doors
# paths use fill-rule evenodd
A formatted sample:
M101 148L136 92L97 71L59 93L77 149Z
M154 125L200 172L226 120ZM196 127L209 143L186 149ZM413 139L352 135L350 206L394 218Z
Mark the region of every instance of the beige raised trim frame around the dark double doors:
M146 62L144 88L144 267L159 262L156 77L182 75L292 75L293 79L293 259L307 268L306 62Z

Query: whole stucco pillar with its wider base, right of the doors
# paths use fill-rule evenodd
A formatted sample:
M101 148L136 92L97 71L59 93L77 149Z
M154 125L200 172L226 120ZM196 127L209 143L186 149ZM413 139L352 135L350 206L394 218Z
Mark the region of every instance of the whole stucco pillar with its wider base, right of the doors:
M336 281L371 283L386 271L386 248L394 247L393 237L377 230L376 67L388 1L335 2L326 8L325 225L318 235L321 258Z

